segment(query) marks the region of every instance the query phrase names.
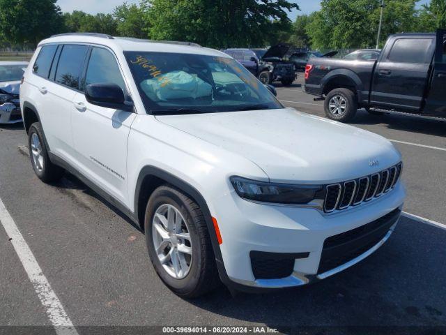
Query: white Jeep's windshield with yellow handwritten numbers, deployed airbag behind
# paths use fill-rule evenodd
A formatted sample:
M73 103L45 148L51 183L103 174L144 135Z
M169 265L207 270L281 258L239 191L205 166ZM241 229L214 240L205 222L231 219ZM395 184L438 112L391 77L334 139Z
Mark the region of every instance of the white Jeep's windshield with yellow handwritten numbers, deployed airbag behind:
M244 66L228 57L125 52L148 112L187 114L283 108Z

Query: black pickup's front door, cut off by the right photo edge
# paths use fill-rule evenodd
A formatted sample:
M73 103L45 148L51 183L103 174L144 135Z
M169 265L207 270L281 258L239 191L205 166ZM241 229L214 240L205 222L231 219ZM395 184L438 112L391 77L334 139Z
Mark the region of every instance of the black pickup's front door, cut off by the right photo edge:
M446 30L437 31L431 87L423 114L446 117Z

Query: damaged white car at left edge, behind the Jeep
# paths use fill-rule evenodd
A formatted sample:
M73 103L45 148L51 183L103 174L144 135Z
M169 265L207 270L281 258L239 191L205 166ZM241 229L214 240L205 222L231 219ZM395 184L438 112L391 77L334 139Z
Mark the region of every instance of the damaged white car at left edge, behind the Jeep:
M19 90L26 61L0 61L0 124L22 122Z

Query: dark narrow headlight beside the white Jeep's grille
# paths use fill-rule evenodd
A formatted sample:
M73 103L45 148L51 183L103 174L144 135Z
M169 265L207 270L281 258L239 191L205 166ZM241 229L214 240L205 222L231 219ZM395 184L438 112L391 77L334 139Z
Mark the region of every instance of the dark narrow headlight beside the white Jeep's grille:
M242 177L231 177L240 198L277 204L308 204L323 199L323 186L275 184Z

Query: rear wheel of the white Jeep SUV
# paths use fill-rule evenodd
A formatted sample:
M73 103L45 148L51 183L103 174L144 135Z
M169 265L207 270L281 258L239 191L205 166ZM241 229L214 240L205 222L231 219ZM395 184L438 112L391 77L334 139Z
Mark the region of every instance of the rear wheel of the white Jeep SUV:
M64 170L49 160L43 129L40 122L31 124L28 132L29 158L37 177L44 183L58 181Z

